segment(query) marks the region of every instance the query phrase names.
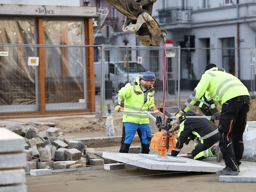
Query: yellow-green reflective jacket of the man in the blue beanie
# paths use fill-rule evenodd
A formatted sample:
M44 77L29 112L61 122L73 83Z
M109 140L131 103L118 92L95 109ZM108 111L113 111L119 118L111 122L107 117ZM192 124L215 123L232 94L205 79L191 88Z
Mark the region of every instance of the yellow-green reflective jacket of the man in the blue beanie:
M144 92L139 85L139 80L142 77L137 77L132 83L127 83L122 87L118 93L118 103L124 100L124 110L126 111L148 111L155 107L154 92L155 89L151 87L146 92L146 103L144 104ZM124 112L123 122L148 124L149 118L145 113L130 113Z

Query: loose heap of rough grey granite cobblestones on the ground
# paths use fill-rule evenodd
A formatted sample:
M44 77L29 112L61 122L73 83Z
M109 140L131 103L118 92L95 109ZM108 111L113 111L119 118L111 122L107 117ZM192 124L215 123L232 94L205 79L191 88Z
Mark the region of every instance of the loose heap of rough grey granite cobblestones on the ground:
M95 153L93 148L78 140L67 140L57 127L50 127L38 132L29 125L8 125L5 128L24 137L27 162L26 173L33 169L66 169L86 166L103 166L116 161L102 158L102 153Z

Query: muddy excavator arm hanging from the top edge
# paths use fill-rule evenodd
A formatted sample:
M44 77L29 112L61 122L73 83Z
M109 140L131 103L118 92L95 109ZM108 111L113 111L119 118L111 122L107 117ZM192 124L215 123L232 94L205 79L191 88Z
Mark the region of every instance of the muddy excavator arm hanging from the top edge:
M126 16L123 32L136 33L145 46L159 46L167 31L161 29L152 17L156 0L107 0L114 8Z

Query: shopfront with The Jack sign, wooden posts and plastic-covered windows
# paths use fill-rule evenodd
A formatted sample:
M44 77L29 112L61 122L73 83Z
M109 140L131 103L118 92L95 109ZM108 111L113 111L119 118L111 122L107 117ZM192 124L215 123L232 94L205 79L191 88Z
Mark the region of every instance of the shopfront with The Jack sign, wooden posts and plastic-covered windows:
M80 0L0 3L0 116L95 111L89 45L97 8Z

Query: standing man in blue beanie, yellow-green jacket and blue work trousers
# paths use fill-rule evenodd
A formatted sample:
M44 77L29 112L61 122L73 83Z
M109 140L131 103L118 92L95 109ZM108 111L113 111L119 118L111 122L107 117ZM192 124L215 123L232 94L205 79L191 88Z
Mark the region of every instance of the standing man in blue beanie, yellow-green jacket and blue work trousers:
M114 104L117 112L121 109L121 101L124 99L125 111L150 111L155 109L153 87L155 74L147 71L143 77L137 77L133 82L127 83L116 93ZM149 118L145 113L124 112L123 134L120 153L128 153L130 144L136 132L141 141L141 153L149 153L149 145L152 138L149 126Z

